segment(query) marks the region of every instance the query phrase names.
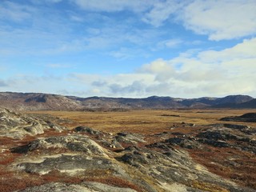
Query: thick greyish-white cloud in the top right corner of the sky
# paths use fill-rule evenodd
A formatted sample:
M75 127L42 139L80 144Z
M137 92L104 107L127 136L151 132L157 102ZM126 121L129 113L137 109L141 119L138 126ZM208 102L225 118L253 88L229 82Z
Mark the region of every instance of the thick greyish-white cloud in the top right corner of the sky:
M179 12L178 19L210 40L241 38L256 34L255 10L254 0L195 0Z

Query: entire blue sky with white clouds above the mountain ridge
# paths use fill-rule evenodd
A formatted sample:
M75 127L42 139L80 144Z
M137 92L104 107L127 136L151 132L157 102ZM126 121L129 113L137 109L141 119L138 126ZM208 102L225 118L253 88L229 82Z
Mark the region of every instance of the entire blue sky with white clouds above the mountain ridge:
M255 0L0 0L0 91L256 97Z

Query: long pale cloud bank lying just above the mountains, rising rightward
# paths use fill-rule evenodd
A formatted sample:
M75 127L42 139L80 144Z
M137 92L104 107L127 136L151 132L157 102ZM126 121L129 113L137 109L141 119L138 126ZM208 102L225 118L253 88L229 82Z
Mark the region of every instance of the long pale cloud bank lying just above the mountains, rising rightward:
M68 74L61 78L41 77L30 81L30 91L86 96L174 97L256 95L256 38L246 39L225 50L189 51L176 58L159 58L129 74ZM18 89L31 77L13 79ZM46 85L50 83L50 89ZM6 86L6 84L1 84ZM41 85L38 87L38 85ZM47 92L47 91L46 91Z

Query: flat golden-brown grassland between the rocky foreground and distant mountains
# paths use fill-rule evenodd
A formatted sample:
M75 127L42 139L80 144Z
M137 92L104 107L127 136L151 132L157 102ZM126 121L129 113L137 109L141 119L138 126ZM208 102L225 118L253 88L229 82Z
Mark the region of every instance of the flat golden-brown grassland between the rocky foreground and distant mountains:
M223 123L220 118L238 116L256 110L130 110L122 112L82 112L82 111L30 111L28 114L50 114L58 118L69 119L67 126L90 126L95 130L110 133L127 131L141 134L157 134L169 131L175 123L190 122L196 125ZM171 116L167 116L171 115ZM232 122L228 122L232 123ZM256 126L256 123L233 122L234 124Z

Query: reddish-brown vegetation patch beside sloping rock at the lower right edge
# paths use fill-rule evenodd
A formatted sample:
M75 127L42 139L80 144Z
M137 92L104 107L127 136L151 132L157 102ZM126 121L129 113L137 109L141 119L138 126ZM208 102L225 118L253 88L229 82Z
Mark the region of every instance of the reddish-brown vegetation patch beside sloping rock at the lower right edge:
M214 148L206 150L189 150L195 161L206 166L214 174L231 178L242 186L256 189L256 157L241 150L231 148Z

